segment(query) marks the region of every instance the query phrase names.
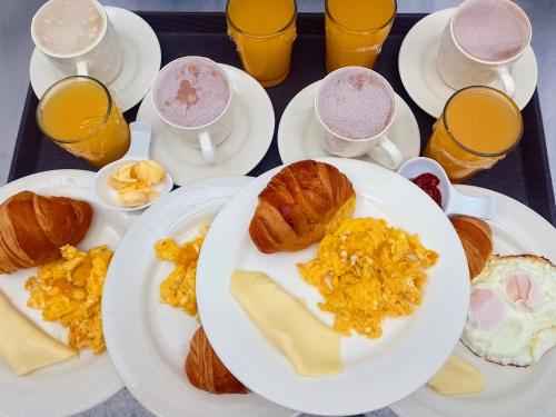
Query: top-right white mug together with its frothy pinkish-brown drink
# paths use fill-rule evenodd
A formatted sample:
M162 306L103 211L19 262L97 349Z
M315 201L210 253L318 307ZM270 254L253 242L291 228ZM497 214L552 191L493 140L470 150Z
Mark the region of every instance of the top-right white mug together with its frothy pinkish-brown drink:
M466 0L444 31L438 72L456 90L499 80L506 95L514 97L512 68L530 39L530 21L513 1Z

